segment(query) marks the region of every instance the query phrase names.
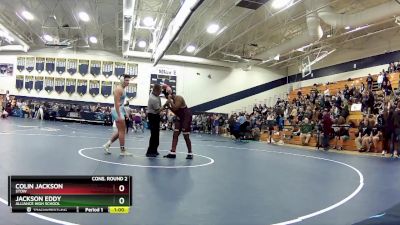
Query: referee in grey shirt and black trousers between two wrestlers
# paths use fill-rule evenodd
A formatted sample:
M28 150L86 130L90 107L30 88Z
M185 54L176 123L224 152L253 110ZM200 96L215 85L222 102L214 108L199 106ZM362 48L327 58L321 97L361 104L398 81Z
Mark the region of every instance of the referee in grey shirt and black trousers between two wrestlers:
M155 84L147 105L147 117L149 118L151 136L146 157L157 157L157 155L159 155L157 148L160 143L160 112L163 110L161 107L160 94L161 86Z

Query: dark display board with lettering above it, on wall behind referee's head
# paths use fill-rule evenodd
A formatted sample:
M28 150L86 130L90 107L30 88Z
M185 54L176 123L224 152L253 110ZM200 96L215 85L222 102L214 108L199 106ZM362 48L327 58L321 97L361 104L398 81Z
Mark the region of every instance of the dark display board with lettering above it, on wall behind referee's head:
M150 75L150 92L153 90L154 84L167 84L176 93L176 70L164 67L155 68Z

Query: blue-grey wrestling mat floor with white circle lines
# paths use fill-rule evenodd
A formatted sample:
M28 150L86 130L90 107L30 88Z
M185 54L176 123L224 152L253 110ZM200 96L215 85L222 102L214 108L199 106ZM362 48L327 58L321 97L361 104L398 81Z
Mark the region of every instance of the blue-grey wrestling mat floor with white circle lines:
M104 155L111 127L0 120L0 224L353 224L400 202L400 160L192 135L185 160L143 157L149 132L129 134L134 157ZM172 133L161 133L161 154ZM114 146L117 146L114 144ZM132 175L128 215L11 214L8 175ZM51 222L53 221L53 222Z

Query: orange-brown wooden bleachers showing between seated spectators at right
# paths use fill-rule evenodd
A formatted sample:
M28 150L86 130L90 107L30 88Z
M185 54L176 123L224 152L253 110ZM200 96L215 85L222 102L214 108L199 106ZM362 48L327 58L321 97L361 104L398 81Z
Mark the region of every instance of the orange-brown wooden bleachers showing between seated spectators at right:
M396 91L399 87L399 75L400 73L392 73L389 75L389 80L392 84L392 88L394 91ZM378 94L380 91L378 90L378 84L376 82L378 75L373 75L372 76L374 79L372 90L376 91ZM311 90L313 88L317 88L319 92L324 92L326 88L329 88L330 94L331 95L336 95L339 90L344 90L345 85L351 87L352 85L355 85L356 87L359 87L361 85L361 82L364 82L365 86L367 87L367 82L366 82L367 76L365 77L359 77L355 78L352 80L341 80L337 81L334 83L330 84L319 84L316 87L314 86L308 86L308 87L302 87L300 89L293 90L291 93L288 95L288 100L292 101L293 99L297 98L297 93L300 91L302 95L307 95L310 94ZM363 114L360 111L350 111L350 115L348 116L346 122L347 123L352 123L354 124L355 127L358 127L359 123L363 120ZM301 145L301 139L300 136L293 135L293 129L287 128L284 129L284 142L285 144L292 144L292 145ZM277 142L281 139L281 135L277 132L277 127L274 129L275 131L273 132L272 139ZM355 138L358 134L358 128L349 128L349 135L350 138L347 141L339 140L338 145L343 147L343 150L348 150L348 151L357 151L357 147L355 144ZM268 142L270 139L269 137L269 132L267 130L261 132L260 140ZM316 147L317 146L317 135L313 134L308 146L311 147ZM331 147L335 146L336 144L336 139L331 139L329 142L329 145ZM379 141L377 147L372 147L371 148L372 152L381 152L382 151L382 141Z

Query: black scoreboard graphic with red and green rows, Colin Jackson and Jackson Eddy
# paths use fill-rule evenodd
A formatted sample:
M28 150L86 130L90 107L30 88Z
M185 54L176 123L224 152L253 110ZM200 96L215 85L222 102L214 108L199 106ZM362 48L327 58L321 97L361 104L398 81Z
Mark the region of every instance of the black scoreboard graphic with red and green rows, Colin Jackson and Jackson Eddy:
M132 176L9 176L11 211L129 213Z

